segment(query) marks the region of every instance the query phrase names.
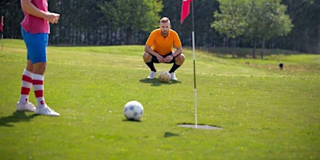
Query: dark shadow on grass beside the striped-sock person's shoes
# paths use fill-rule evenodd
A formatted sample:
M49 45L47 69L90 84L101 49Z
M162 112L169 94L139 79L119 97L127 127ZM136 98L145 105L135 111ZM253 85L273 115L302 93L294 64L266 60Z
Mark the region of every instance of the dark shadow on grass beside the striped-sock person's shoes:
M36 114L33 115L26 115L24 112L15 111L13 115L9 115L8 117L1 117L0 118L0 127L13 127L10 123L15 122L29 122L32 120L35 116L38 116Z

